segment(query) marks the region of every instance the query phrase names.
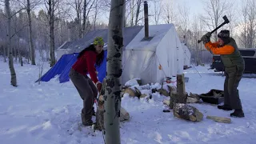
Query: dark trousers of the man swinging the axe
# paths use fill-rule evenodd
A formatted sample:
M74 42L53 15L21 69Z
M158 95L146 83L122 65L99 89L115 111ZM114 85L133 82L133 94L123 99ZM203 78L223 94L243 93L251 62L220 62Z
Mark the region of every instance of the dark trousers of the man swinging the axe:
M243 71L244 66L225 68L224 105L230 106L233 110L242 110L238 85L241 81Z

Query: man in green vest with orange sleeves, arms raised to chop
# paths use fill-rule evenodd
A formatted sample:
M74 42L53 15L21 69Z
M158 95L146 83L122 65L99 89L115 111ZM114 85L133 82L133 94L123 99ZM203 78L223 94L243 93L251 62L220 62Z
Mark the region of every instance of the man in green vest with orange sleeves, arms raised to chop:
M220 54L225 69L224 105L218 106L222 110L234 110L230 117L245 117L241 100L239 98L238 85L245 70L245 62L242 58L237 43L230 37L229 30L221 30L218 33L218 42L210 42L211 33L202 36L201 40L212 54Z

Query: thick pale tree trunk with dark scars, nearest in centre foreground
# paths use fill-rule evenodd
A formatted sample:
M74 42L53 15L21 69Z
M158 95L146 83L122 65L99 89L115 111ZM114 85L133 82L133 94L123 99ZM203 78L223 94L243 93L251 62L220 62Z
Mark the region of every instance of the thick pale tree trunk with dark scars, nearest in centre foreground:
M121 106L121 76L123 47L123 4L125 0L111 0L108 52L106 65L106 97L104 126L106 129L106 144L119 144L120 106Z

